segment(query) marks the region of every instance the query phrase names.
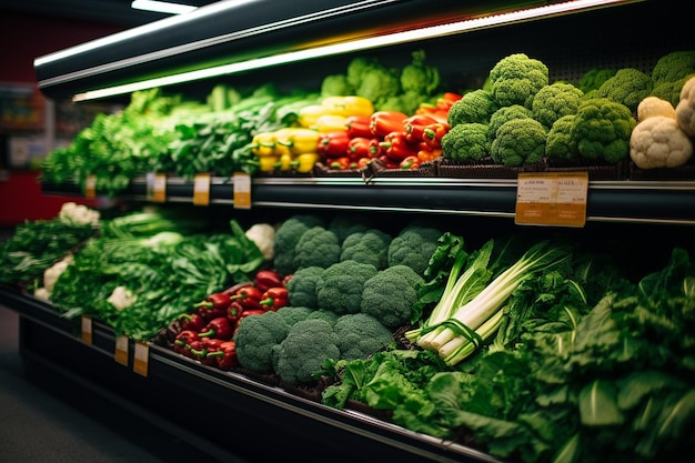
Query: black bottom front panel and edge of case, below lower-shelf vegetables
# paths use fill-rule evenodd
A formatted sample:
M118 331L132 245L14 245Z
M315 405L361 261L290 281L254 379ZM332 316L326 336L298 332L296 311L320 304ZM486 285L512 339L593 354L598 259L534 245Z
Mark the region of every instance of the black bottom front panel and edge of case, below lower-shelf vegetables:
M296 452L304 455L304 461L319 462L332 453L351 456L354 452L352 456L365 463L400 459L413 463L496 462L474 449L414 433L361 412L328 407L242 374L203 365L157 344L148 344L143 374L132 366L135 343L129 341L131 366L115 362L115 335L99 322L93 322L92 342L85 343L80 338L79 320L61 318L49 303L0 285L0 304L20 314L22 356L122 403L164 431L207 449L214 457L226 449L249 461L273 452L278 455L272 456L278 457ZM202 419L205 425L197 431L197 421ZM258 441L258 430L272 436L275 449L244 447ZM256 439L244 436L249 432ZM301 453L308 447L313 449L312 454Z

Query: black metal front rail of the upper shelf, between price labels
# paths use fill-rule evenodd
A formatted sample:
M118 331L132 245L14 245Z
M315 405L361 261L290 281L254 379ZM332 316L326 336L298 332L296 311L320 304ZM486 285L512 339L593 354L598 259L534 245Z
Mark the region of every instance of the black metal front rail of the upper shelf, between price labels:
M251 188L252 208L417 212L514 218L514 179L259 178ZM169 178L167 201L191 203L192 180ZM233 181L211 178L210 203L233 205ZM47 194L81 194L75 185L44 184ZM119 195L147 201L148 183L134 179ZM694 181L590 181L586 220L594 222L695 225Z

